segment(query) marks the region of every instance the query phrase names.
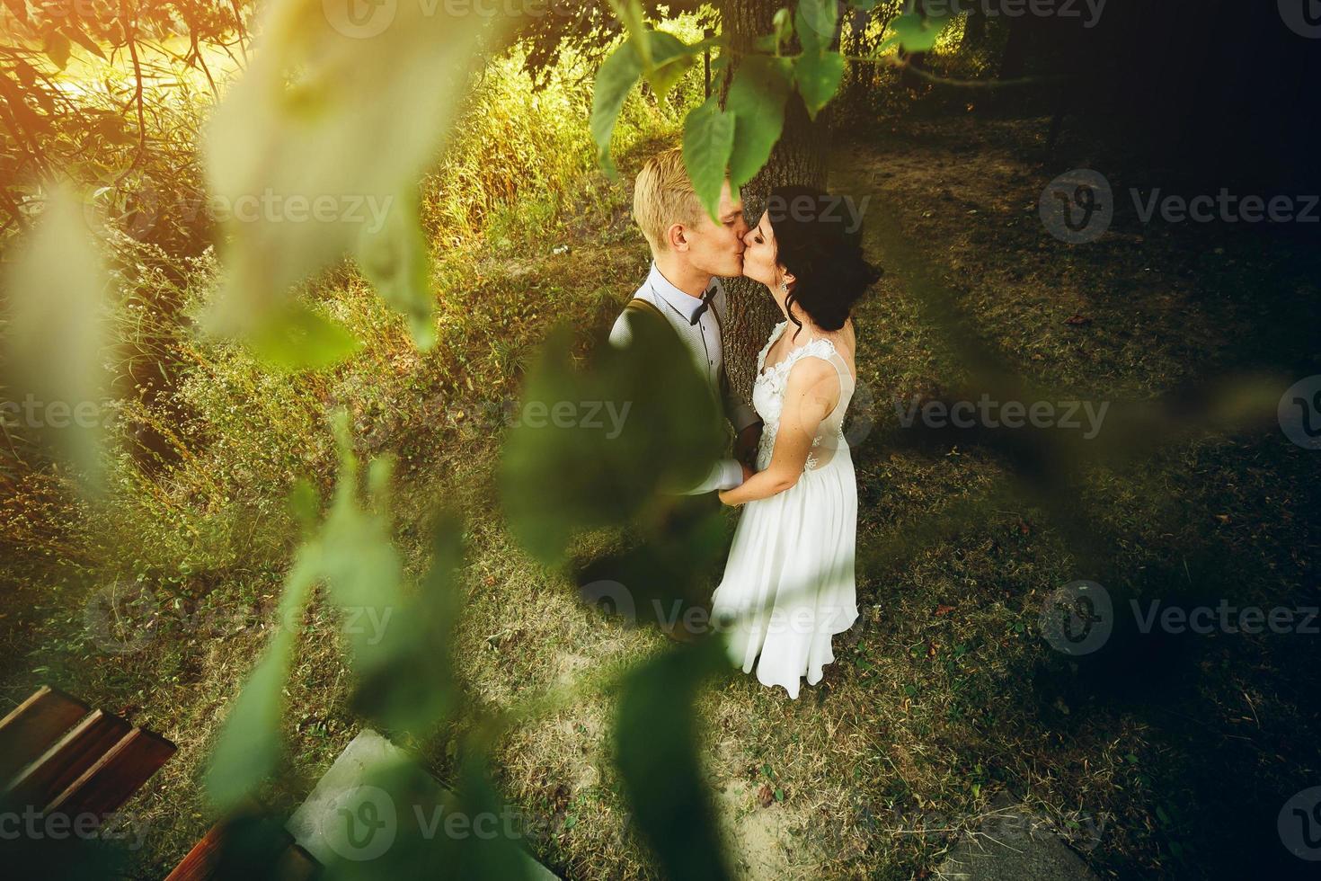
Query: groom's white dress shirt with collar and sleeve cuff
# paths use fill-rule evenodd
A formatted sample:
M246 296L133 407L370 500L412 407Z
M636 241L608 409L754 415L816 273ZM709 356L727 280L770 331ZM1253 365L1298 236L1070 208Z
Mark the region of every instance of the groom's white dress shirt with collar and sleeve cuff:
M707 378L707 386L717 404L723 404L725 416L733 424L736 432L749 425L754 425L761 419L752 407L745 404L729 387L725 376L724 355L721 350L723 339L720 325L728 314L725 288L719 279L713 279L716 295L711 300L711 308L701 313L696 324L692 324L694 313L701 306L701 299L680 291L666 279L655 263L647 280L642 283L637 293L638 300L646 300L666 317L670 326L679 335L684 347L692 355L692 362L697 371ZM610 345L622 349L633 339L629 330L627 313L620 314L610 329ZM742 483L742 466L732 458L720 460L712 466L711 473L696 487L682 493L683 495L697 495L715 490L732 490Z

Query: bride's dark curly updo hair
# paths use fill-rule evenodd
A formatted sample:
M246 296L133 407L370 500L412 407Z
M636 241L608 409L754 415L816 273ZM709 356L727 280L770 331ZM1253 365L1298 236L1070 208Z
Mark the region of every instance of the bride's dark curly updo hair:
M798 330L803 325L794 317L795 302L823 330L839 330L881 277L881 269L863 256L859 218L848 197L810 186L777 186L766 199L777 260L795 279L786 309Z

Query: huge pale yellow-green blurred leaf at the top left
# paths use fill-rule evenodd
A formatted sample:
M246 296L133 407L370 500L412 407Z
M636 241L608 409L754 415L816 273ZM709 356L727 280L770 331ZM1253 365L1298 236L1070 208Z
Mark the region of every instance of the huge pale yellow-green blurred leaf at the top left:
M365 225L435 162L466 94L482 37L510 16L431 15L425 4L350 8L276 0L263 8L251 63L205 136L223 226L223 284L207 326L247 335L291 288L354 252ZM420 86L424 85L424 86ZM404 254L410 250L404 248ZM410 291L415 263L400 264Z

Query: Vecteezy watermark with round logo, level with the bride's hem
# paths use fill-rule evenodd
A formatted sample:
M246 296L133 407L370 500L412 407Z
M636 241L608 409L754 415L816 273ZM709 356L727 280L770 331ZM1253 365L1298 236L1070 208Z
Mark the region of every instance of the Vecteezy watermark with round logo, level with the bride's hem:
M1139 633L1155 630L1180 635L1194 634L1321 634L1318 606L1235 605L1222 598L1217 605L1166 605L1164 600L1140 602L1129 600L1128 608ZM1115 631L1115 608L1110 592L1095 581L1071 581L1046 597L1041 608L1041 635L1057 651L1086 655L1096 651Z

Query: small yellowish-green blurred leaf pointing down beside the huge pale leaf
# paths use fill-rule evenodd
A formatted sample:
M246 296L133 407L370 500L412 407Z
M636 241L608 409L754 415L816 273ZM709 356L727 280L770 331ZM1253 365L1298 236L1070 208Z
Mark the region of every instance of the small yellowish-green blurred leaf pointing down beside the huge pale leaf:
M436 297L416 188L400 193L384 218L370 218L358 243L358 265L386 302L407 316L417 347L431 349L436 343Z

